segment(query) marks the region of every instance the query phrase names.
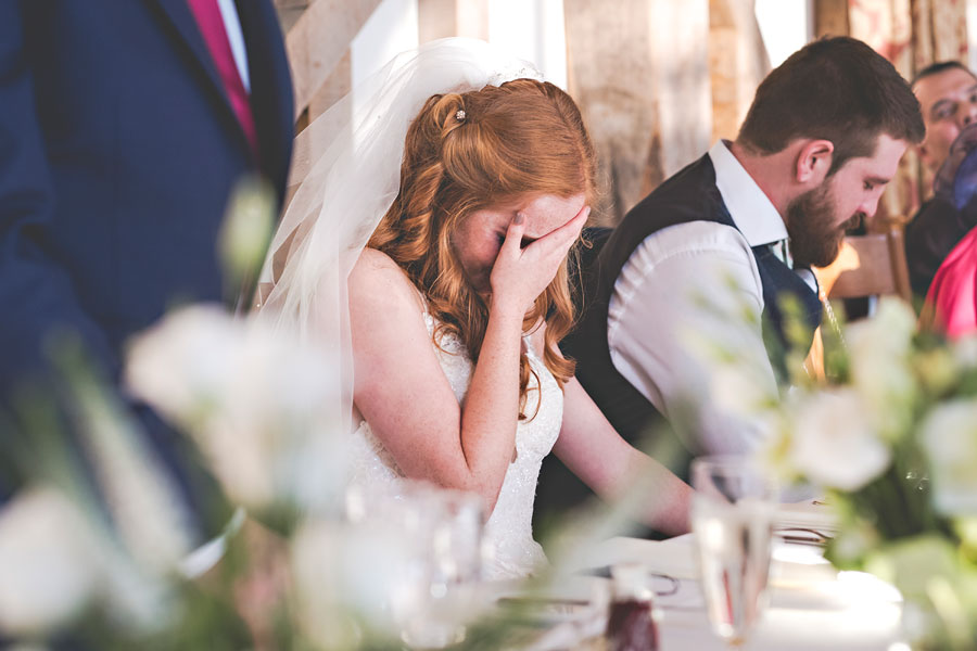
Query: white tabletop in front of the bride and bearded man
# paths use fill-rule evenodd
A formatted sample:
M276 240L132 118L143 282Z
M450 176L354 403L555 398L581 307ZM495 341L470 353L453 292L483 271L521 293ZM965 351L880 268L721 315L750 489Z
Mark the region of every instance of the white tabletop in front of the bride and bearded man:
M791 507L783 510L778 527L808 526L823 531L828 525L816 511L804 513ZM663 651L723 651L722 640L711 633L698 584L694 535L654 541L618 537L599 542L578 558L556 560L563 573L545 588L555 602L578 603L563 622L540 636L532 651L574 648L579 640L600 630L601 592L609 582L581 571L639 562L655 573L677 580L677 590L656 599L660 609L660 647ZM656 591L671 584L662 578ZM902 643L900 615L902 599L892 586L872 575L838 572L809 544L774 545L769 589L770 603L747 644L753 651L908 651ZM605 597L606 599L606 597Z

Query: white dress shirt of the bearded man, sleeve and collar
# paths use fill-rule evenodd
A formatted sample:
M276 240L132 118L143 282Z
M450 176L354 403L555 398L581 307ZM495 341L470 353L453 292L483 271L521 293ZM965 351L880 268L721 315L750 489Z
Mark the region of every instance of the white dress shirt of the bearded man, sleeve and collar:
M614 283L607 340L618 372L680 422L680 434L695 437L685 442L691 450L743 452L763 436L749 416L750 401L777 395L761 330L763 286L750 247L772 244L783 260L787 229L724 142L709 157L739 230L690 221L648 235ZM805 280L813 282L813 275ZM723 370L718 349L739 356L735 373Z

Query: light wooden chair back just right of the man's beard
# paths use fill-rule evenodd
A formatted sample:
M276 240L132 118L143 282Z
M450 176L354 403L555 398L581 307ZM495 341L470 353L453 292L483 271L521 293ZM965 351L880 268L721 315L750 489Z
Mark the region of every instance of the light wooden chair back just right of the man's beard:
M828 298L854 298L894 294L911 302L902 229L845 238L838 258L815 269L817 281Z

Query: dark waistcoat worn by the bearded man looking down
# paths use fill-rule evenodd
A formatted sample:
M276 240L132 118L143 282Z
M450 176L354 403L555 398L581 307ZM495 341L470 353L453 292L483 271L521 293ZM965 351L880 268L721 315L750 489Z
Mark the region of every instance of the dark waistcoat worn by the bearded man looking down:
M672 438L652 444L669 443L671 449L680 450L671 462L660 459L680 476L687 476L688 461L700 450L685 449L651 403L614 368L607 343L607 318L614 282L631 254L651 233L689 221L714 221L736 228L715 186L715 170L708 155L669 178L624 216L596 260L583 271L584 310L574 332L560 345L564 354L576 359L581 384L626 441L640 445L644 442L638 439L644 435ZM754 246L752 254L763 286L764 344L774 370L783 373L785 295L796 299L812 333L821 322L822 305L817 294L766 244ZM655 323L648 323L648 328L655 328ZM588 494L557 459L547 457L536 499L540 518L551 514L554 508L573 506Z

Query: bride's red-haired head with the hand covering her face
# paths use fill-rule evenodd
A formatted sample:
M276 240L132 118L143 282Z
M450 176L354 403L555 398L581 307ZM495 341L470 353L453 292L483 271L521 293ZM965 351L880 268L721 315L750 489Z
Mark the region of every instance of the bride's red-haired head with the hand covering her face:
M574 320L567 251L596 199L595 179L580 110L558 87L516 79L437 94L408 129L399 192L369 246L405 270L439 328L456 335L472 360L499 280L506 301L511 293L513 304L524 304L525 331L546 320L542 356L562 385L574 368L556 346ZM521 226L513 224L517 213L525 219ZM496 275L491 269L511 228L523 232L502 254ZM523 250L523 238L538 239L538 246ZM530 374L523 353L522 405Z

